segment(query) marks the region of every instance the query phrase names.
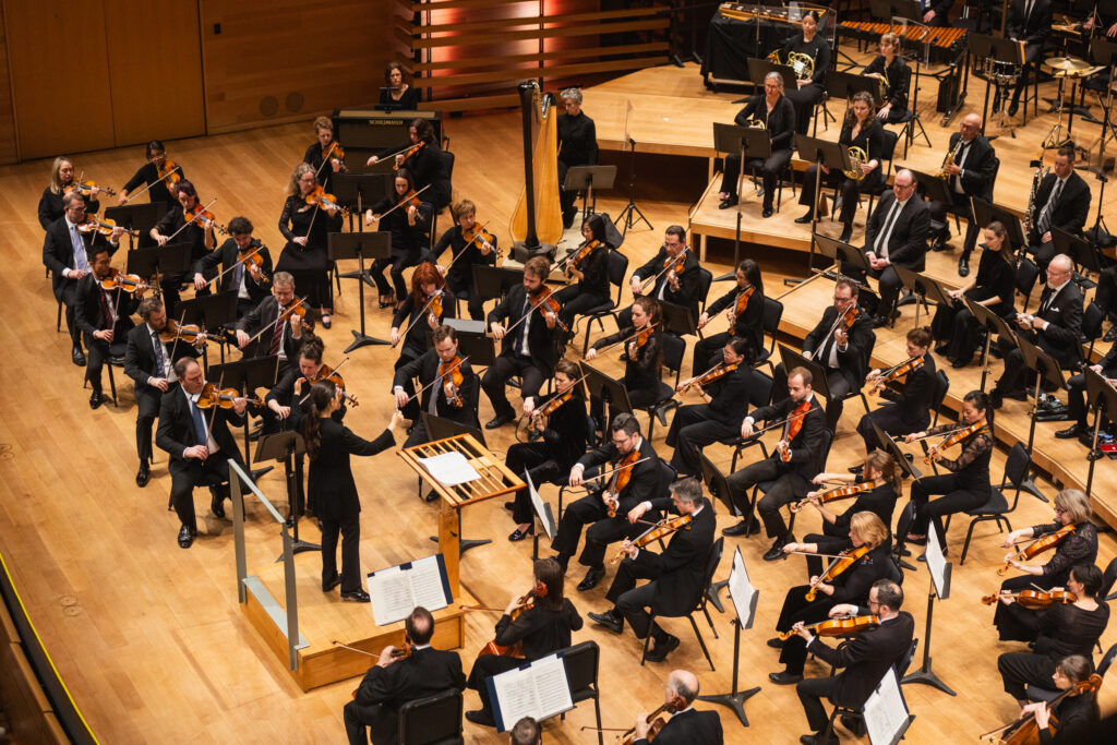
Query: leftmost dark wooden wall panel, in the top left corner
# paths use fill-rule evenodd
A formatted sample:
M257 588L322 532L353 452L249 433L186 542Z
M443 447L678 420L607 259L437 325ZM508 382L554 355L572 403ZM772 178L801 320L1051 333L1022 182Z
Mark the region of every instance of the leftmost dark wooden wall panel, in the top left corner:
M112 147L102 0L4 2L20 159Z

